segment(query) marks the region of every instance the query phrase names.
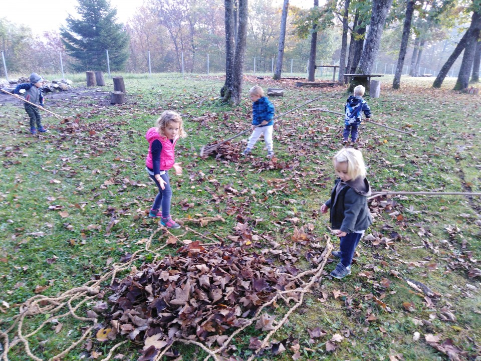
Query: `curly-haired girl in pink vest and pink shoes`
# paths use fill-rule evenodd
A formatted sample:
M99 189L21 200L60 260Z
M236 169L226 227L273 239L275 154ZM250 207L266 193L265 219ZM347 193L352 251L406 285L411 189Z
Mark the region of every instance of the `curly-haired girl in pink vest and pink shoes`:
M172 189L169 184L168 170L174 168L175 174L182 174L180 163L176 163L174 159L174 148L177 139L185 136L182 118L170 110L164 111L155 121L155 127L147 130L145 134L145 139L149 142L145 165L159 190L149 217L160 218L160 224L167 228L180 228L180 225L170 216Z

